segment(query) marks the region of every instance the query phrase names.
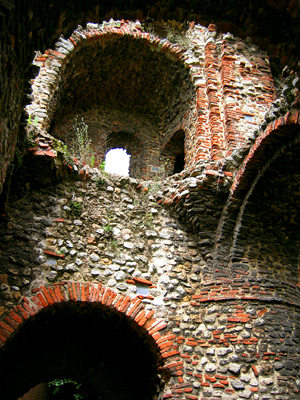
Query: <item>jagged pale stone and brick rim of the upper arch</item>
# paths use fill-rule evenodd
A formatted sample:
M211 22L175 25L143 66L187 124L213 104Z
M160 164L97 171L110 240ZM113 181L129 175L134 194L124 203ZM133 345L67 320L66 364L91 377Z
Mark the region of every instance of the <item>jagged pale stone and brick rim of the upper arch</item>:
M35 126L37 131L42 132L49 129L53 117L53 110L49 110L49 103L54 103L51 105L53 109L57 107L58 99L55 98L57 89L62 83L68 64L76 57L78 52L95 42L105 47L108 43L117 42L120 38L142 41L145 46L150 47L151 51L160 53L172 61L179 61L183 68L191 70L194 67L195 69L195 66L185 62L185 49L167 39L161 39L150 35L149 32L143 32L138 23L128 23L128 21L122 20L117 27L115 24L104 26L87 24L86 29L79 26L69 39L60 37L55 44L55 50L46 50L42 55L38 53L33 60L33 64L40 68L40 72L33 80L33 101L26 107L26 110L29 115L34 115L36 111L40 111ZM39 97L41 90L47 93L47 96L44 98L44 105L41 110L38 110L39 107L35 109L35 106L41 101ZM32 122L33 120L28 124L29 128Z

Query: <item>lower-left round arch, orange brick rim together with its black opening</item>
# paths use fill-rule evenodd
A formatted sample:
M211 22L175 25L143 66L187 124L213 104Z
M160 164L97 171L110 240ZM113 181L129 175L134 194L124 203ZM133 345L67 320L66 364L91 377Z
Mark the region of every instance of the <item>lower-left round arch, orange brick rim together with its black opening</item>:
M2 394L15 400L40 382L71 378L105 399L160 398L163 360L178 354L166 325L140 298L101 284L37 288L0 321Z

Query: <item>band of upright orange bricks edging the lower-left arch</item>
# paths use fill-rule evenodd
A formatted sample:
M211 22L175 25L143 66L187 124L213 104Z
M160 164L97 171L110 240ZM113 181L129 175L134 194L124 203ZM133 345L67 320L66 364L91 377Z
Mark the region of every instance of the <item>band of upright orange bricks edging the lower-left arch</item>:
M22 302L13 306L0 319L0 350L10 346L14 336L27 321L33 321L43 312L54 310L64 304L90 304L104 307L115 314L121 314L133 324L135 330L143 332L157 352L157 366L166 380L183 369L178 362L178 344L176 335L165 331L167 323L155 317L155 311L147 311L142 304L142 296L131 298L114 292L101 283L62 282L49 286L41 286L32 290L33 295L24 297ZM53 311L52 311L53 312ZM149 342L150 343L150 342ZM151 346L153 346L153 344ZM152 350L154 351L154 350ZM138 355L137 355L138 356ZM177 375L175 376L175 379ZM181 377L178 377L179 383ZM178 383L178 382L177 382Z

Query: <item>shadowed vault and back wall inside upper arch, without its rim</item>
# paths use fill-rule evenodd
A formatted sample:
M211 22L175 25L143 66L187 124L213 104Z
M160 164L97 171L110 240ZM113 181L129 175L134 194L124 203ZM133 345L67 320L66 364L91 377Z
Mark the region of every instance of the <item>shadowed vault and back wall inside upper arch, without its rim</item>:
M69 145L74 117L84 117L98 166L112 148L111 133L126 132L134 150L116 147L131 154L130 176L147 180L161 164L166 138L195 105L190 69L178 54L155 47L153 39L99 36L70 53L47 111L49 133Z

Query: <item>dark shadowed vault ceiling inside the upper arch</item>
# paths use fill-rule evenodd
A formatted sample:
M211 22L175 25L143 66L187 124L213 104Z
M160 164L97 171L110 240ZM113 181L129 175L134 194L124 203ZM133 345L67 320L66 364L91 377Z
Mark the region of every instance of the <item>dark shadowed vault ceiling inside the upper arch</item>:
M109 105L159 125L186 111L191 89L189 70L182 61L154 51L145 39L111 35L109 40L89 42L70 57L54 119Z

